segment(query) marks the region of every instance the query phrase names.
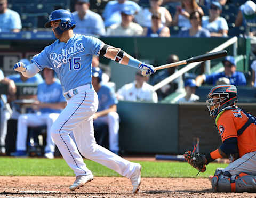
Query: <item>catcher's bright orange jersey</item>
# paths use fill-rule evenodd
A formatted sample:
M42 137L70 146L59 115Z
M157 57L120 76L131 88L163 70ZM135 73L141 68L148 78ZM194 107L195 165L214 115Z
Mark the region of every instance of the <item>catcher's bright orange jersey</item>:
M256 125L251 123L244 132L238 136L237 130L241 129L247 122L248 117L239 109L222 111L216 119L222 142L231 137L237 137L239 156L256 151Z

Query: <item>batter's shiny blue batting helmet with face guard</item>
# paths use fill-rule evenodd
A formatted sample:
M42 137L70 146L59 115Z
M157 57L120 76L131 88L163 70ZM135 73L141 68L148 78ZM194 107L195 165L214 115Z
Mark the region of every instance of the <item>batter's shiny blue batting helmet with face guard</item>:
M63 9L52 11L52 13L49 16L49 21L46 22L44 26L46 28L50 28L51 21L57 21L57 20L61 20L59 27L56 28L56 30L58 31L58 34L62 34L64 31L69 30L71 28L73 29L76 27L76 23L71 12Z

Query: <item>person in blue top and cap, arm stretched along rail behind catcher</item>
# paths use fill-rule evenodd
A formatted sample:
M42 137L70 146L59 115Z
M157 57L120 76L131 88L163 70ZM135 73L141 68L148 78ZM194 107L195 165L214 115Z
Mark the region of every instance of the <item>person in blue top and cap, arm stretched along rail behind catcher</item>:
M199 75L196 77L196 85L199 87L204 82L215 85L216 81L221 77L228 78L231 85L246 85L244 74L236 71L236 63L233 56L227 56L222 63L224 65L224 72L212 73L211 75Z

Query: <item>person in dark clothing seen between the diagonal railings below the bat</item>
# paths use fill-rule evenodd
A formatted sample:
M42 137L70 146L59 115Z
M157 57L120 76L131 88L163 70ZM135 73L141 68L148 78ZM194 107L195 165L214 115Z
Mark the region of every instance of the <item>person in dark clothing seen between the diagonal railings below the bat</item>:
M168 57L166 64L170 64L178 61L179 61L179 57L175 54L171 54ZM173 73L175 73L176 71L178 71L176 67L171 67L171 68L166 68L159 72L156 72L155 75L151 77L150 84L156 85L157 83L161 82L165 78L173 75ZM158 100L162 100L163 98L165 98L166 96L174 92L178 88L178 81L179 79L176 78L171 83L164 85L163 87L158 89L157 90Z

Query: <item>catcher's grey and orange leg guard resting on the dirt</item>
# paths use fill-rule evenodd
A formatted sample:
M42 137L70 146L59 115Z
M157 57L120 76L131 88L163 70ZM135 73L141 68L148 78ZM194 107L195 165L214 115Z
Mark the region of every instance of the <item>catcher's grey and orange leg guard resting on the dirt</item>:
M225 171L219 177L213 178L212 186L213 183L214 190L218 192L256 192L256 176L245 172L231 175L228 171Z

